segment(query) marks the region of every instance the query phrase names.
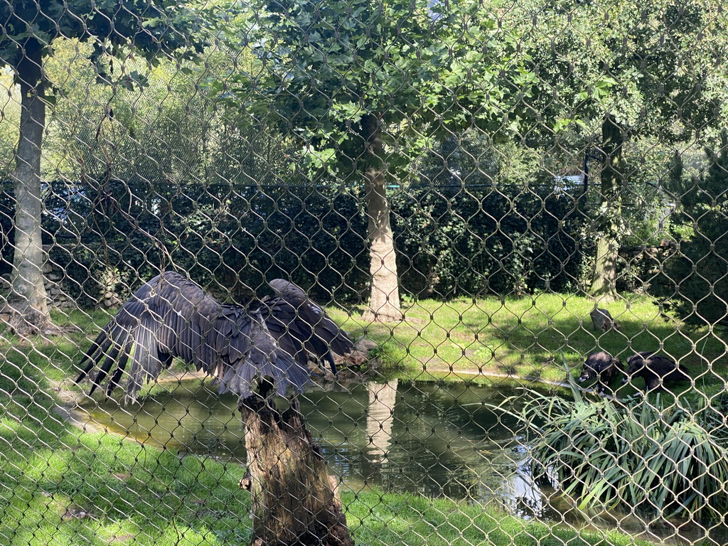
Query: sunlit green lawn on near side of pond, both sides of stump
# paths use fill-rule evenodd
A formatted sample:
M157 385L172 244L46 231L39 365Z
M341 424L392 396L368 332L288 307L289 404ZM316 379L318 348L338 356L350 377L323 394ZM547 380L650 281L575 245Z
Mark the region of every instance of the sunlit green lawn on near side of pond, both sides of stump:
M242 467L83 431L58 414L55 386L74 376L79 345L86 347L98 325L82 313L56 321L84 332L1 338L0 544L248 545ZM613 532L552 529L446 499L379 491L342 498L357 544L647 544Z

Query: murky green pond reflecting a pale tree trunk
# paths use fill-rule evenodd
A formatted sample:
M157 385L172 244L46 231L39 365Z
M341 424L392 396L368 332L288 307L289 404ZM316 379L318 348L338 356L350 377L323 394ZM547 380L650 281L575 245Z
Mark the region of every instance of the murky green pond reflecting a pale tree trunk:
M522 395L518 383L501 379L486 384L389 379L314 386L300 400L329 472L352 491L376 486L496 503L524 518L607 528L618 521L623 531L646 531L643 521L627 514L589 516L559 504L553 489L531 479L523 426L515 416L491 409L513 397L509 407L517 411ZM237 398L218 395L209 381L182 381L174 392L134 405L108 400L88 410L111 432L245 463ZM681 534L692 541L701 531L691 526ZM666 539L674 533L671 525L652 526L645 538Z

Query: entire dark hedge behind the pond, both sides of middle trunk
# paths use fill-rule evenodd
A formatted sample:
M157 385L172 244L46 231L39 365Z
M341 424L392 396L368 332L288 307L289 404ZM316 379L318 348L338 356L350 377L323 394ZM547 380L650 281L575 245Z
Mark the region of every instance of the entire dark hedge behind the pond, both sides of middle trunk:
M365 290L366 218L352 193L247 187L227 197L224 209L209 186L155 199L163 212L151 213L149 203L91 210L76 259L89 272L101 264L133 277L171 261L234 292L244 290L238 275L255 288L289 274L302 285L340 289L339 297ZM577 275L568 195L517 186L417 189L392 201L401 283L411 293L563 290Z

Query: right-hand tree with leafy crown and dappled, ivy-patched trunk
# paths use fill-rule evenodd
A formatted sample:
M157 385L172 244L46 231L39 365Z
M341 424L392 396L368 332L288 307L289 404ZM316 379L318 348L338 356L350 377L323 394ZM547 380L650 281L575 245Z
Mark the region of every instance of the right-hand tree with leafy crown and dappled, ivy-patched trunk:
M590 289L598 298L617 296L625 143L700 141L719 122L725 40L717 9L703 0L527 1L505 16L535 76L523 141L577 143L585 153L594 146L604 162Z

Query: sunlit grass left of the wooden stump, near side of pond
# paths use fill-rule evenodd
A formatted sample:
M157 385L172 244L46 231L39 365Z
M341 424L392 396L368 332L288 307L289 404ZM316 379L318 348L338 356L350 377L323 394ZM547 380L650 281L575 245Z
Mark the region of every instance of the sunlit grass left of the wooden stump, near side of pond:
M247 544L240 466L85 433L56 413L50 383L73 368L58 346L76 341L55 341L18 344L0 368L0 543Z

